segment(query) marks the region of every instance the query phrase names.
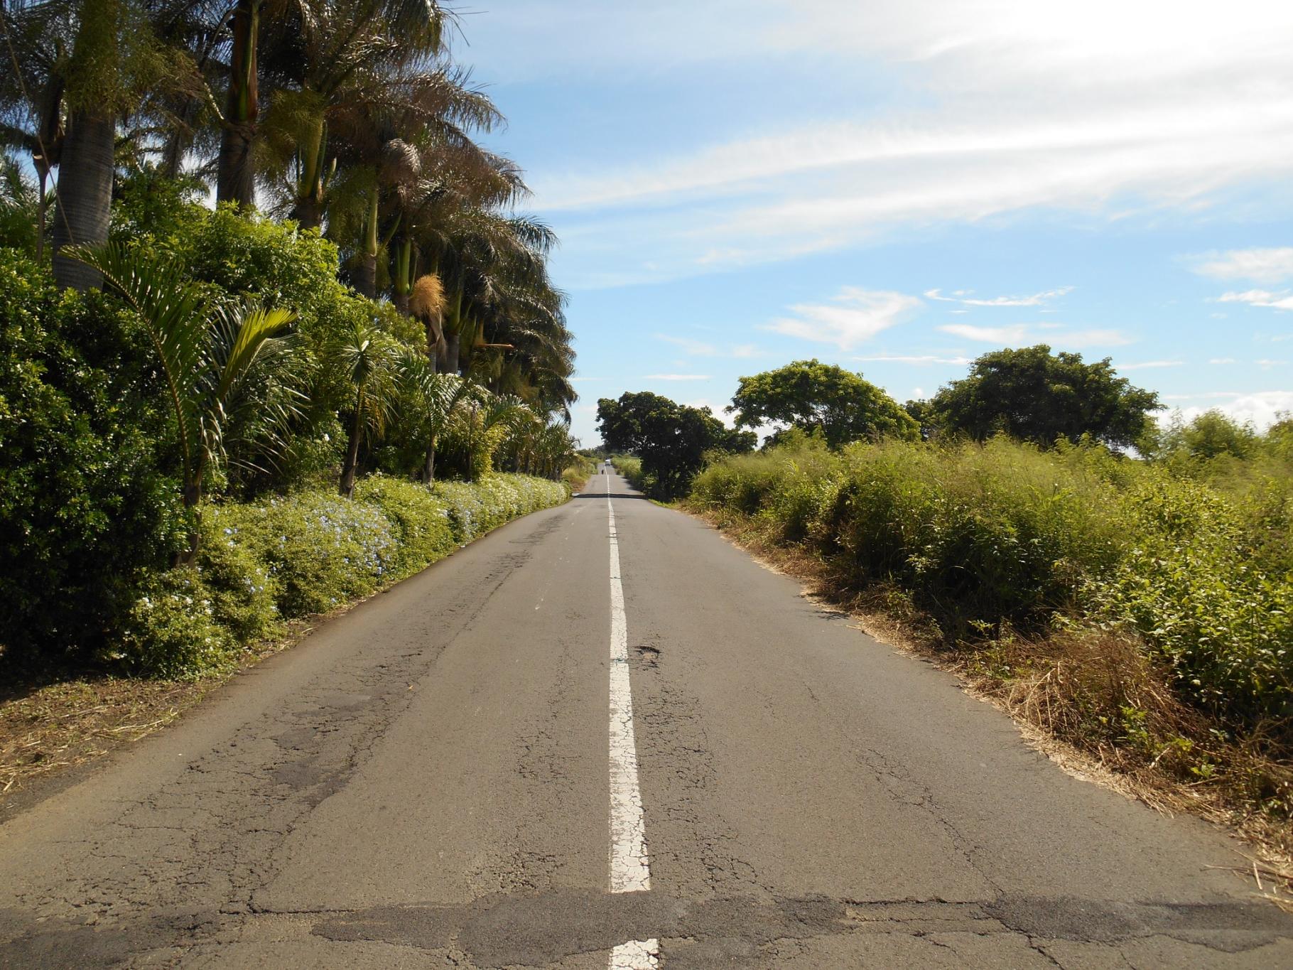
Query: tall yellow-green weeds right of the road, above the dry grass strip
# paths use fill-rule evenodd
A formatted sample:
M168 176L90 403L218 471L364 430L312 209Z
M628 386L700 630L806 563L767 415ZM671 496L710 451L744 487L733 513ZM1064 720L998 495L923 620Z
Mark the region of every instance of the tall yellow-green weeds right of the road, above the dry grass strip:
M692 501L811 551L839 588L900 591L945 648L1130 636L1182 701L1289 740L1293 477L1281 462L888 441L729 458L697 477Z

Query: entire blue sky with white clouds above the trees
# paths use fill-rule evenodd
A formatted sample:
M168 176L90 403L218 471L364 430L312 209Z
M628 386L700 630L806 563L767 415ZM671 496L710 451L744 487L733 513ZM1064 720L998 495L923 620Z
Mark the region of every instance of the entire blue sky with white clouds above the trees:
M817 357L905 401L998 347L1293 409L1293 4L482 0L599 397Z

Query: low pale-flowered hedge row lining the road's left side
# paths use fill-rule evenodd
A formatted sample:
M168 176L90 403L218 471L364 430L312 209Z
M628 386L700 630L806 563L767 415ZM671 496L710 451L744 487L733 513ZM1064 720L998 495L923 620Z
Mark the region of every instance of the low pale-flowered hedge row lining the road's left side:
M198 563L145 576L124 632L102 660L154 676L225 666L284 620L376 592L568 494L561 482L524 475L431 490L372 476L353 501L299 491L206 506Z

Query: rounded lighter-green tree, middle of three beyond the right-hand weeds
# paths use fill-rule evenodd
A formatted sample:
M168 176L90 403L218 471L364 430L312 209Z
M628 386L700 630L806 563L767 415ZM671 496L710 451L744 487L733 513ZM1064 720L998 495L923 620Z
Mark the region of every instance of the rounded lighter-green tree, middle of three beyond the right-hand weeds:
M919 435L915 420L861 374L816 360L741 378L727 410L736 413L737 427L820 431L831 447L879 436L912 441Z

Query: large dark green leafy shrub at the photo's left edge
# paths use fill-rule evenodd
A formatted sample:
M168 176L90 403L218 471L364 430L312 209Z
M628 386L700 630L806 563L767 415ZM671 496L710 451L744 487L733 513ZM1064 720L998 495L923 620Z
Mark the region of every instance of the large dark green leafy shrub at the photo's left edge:
M0 250L0 651L93 653L182 541L134 321Z

